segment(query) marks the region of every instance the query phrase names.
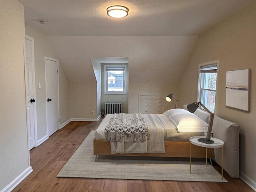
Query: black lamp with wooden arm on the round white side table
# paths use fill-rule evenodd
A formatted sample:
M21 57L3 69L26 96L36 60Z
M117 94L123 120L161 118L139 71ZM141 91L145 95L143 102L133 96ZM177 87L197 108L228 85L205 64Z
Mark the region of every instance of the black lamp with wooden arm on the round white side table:
M213 143L213 140L211 140L211 134L212 134L212 123L213 123L214 113L210 112L206 108L206 106L204 106L201 102L194 102L192 104L189 104L187 108L189 112L194 113L196 109L199 107L199 105L201 105L210 114L210 120L209 120L206 138L199 138L198 141L206 144L211 144Z

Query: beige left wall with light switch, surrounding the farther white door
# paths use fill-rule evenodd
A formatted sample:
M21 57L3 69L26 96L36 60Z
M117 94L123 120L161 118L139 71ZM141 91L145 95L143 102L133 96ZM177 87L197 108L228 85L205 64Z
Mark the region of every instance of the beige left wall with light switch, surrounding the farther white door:
M58 59L58 56L44 34L30 26L26 26L25 30L28 36L34 38L37 133L40 141L47 136L44 57ZM61 62L59 60L60 124L70 119L70 85ZM41 89L38 88L38 83L41 84Z

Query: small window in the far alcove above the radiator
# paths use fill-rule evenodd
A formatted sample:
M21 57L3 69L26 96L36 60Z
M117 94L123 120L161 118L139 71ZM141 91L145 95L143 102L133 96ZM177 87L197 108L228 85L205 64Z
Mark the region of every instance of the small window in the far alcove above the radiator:
M104 94L126 94L126 65L105 65L104 74Z

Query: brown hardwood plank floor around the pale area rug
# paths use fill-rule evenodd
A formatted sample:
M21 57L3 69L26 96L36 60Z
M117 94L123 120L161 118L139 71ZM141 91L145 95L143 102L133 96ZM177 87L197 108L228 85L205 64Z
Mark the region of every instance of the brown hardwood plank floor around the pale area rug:
M101 119L102 120L102 119ZM227 183L57 178L56 175L99 122L70 122L30 150L34 170L12 192L254 192L241 179L224 172ZM213 165L218 172L220 166Z

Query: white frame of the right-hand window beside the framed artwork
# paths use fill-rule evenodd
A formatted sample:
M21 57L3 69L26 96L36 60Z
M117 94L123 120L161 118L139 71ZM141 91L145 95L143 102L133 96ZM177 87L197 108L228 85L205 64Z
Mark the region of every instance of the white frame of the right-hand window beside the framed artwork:
M198 90L197 90L197 99L198 101L202 102L202 98L201 98L201 90L204 89L204 90L208 90L208 91L214 91L212 89L206 89L206 88L201 88L201 84L202 84L202 78L201 78L201 74L200 73L200 69L202 68L206 68L207 66L214 66L216 65L217 66L217 77L216 77L216 90L215 90L215 101L214 101L214 114L217 114L217 104L218 104L218 78L219 78L219 71L220 71L220 60L214 60L214 61L210 61L210 62L205 62L205 63L202 63L202 64L199 64L198 65ZM204 102L202 102L202 104L204 104ZM206 106L206 105L205 105ZM206 106L207 107L207 106ZM200 109L201 110L204 110L204 108L202 108L200 106Z

